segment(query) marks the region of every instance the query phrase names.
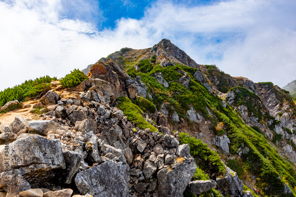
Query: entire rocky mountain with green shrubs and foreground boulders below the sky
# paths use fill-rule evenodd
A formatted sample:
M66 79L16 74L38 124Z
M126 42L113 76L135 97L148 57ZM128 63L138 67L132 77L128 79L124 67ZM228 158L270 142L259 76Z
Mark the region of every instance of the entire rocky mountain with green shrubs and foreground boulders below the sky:
M296 196L287 90L167 39L83 72L0 92L0 196Z

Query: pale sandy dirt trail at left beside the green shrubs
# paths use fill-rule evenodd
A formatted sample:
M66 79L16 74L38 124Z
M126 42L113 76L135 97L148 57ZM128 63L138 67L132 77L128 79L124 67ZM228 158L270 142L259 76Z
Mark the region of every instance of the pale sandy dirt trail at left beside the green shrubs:
M27 102L24 102L24 104L30 104L31 106L29 108L25 108L25 109L15 109L15 110L12 110L12 111L9 111L5 114L0 114L0 122L2 123L10 123L12 122L14 119L15 119L15 116L22 116L23 118L27 119L27 118L30 118L30 119L36 119L36 115L34 115L33 113L30 113L30 110L33 109L33 105L35 103L37 103L37 101L27 101Z

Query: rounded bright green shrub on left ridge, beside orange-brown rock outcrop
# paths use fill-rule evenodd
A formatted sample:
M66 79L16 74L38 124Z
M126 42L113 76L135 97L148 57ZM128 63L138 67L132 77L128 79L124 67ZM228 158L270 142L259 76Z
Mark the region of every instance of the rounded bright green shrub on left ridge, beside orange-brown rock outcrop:
M74 69L70 74L66 74L65 77L61 78L59 82L64 87L74 88L85 80L87 80L87 76L79 69Z

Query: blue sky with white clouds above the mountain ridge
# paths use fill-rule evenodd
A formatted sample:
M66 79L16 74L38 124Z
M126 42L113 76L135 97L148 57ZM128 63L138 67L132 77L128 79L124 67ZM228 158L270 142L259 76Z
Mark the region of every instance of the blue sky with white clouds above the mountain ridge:
M198 64L283 87L296 79L295 10L291 0L0 0L0 90L163 38Z

